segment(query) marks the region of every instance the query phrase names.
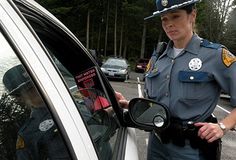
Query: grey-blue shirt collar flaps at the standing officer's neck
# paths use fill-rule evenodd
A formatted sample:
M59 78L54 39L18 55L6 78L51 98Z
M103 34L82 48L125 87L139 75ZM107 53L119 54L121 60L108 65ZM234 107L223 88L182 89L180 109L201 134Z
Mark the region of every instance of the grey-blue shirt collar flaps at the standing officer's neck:
M193 34L191 40L189 41L187 47L184 49L184 51L187 51L189 53L198 55L199 54L199 48L200 48L200 44L201 44L202 39L197 35L197 34ZM165 55L170 56L169 54L171 53L172 49L173 49L173 41L169 41L168 45L167 45L167 49L165 50L165 52L160 56L160 58L164 57Z

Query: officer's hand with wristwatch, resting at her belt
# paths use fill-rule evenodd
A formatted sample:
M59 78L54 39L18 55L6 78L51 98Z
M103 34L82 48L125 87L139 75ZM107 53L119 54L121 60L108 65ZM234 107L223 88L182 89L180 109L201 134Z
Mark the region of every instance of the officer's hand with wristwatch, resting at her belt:
M198 122L194 125L199 128L198 136L201 139L206 139L208 143L224 136L223 130L217 123Z

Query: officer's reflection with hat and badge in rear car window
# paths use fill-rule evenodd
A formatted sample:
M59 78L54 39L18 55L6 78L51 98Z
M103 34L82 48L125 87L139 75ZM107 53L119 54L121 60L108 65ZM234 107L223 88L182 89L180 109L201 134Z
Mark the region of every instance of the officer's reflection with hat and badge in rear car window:
M22 65L9 69L3 77L8 94L30 107L31 114L18 131L18 160L71 159L44 101Z

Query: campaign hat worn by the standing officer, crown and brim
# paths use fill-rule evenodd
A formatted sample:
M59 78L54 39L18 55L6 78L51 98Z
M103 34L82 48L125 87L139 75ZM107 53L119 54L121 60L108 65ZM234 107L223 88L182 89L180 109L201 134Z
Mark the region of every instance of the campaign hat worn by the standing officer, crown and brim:
M199 1L200 0L156 0L157 11L153 12L151 16L144 18L144 20L159 16L169 11L183 8Z

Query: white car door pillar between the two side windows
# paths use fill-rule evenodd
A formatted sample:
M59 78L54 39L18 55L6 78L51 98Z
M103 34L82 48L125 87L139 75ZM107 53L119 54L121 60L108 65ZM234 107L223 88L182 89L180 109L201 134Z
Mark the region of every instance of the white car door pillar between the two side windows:
M79 113L71 109L75 107L67 108L67 106L75 104L71 100L65 84L61 81L48 57L45 57L45 51L39 45L35 35L28 30L8 3L4 5L0 8L0 13L5 15L1 18L1 32L26 68L42 98L50 106L49 110L52 111L55 121L62 131L72 157L74 159L96 159L97 155L95 150L91 149L93 145L88 133L78 129L78 125L82 128L84 126ZM56 107L58 105L63 109ZM76 147L76 145L84 146L86 143L88 147Z

